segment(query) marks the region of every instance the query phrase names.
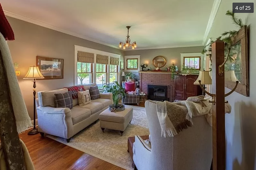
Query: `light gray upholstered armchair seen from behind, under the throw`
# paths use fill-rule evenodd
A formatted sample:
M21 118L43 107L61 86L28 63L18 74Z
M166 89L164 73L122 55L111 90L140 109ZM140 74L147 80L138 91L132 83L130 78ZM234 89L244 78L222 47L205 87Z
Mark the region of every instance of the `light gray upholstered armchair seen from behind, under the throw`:
M205 116L193 118L194 125L174 137L161 137L156 102L145 102L151 145L135 136L133 160L138 170L210 170L212 127Z

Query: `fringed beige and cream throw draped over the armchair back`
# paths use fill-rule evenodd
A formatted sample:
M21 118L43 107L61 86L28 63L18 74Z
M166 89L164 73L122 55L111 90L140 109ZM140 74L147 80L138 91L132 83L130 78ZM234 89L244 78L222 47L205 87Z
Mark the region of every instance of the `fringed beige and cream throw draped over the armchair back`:
M164 137L173 137L188 126L193 126L192 117L194 116L205 115L207 122L212 126L212 104L209 103L209 100L157 102L156 110L162 129L161 136ZM230 104L225 105L225 112L231 112Z

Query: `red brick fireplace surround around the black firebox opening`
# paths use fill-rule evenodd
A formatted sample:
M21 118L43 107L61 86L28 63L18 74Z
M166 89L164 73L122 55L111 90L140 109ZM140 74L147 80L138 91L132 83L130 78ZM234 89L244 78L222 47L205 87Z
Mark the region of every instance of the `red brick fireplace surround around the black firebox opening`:
M170 72L139 72L140 91L148 95L148 85L167 86L167 100L174 101L174 80Z

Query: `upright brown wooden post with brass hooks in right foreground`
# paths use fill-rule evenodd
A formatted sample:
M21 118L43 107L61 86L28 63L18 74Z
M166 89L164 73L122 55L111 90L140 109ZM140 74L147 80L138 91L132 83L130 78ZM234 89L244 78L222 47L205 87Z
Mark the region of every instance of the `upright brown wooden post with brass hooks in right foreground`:
M213 170L226 169L225 149L225 82L224 73L219 75L219 65L224 62L224 42L212 44L212 94L216 94L212 105L212 152Z

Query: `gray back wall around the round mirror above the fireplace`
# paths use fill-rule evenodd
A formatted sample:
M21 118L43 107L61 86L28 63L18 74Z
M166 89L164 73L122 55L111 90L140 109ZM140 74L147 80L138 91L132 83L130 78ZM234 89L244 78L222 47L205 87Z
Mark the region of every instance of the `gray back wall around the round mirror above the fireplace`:
M156 56L164 56L166 58L166 65L165 66L171 66L172 62L176 66L178 66L180 70L180 53L193 53L193 52L202 52L203 46L196 46L196 47L180 47L180 48L161 48L161 49L152 49L152 50L130 50L125 51L126 56L132 56L132 55L140 55L140 64L147 62L148 67L152 68L152 70L155 69L155 67L152 64L152 60ZM164 66L164 67L165 67ZM164 70L163 68L160 68L161 70Z

